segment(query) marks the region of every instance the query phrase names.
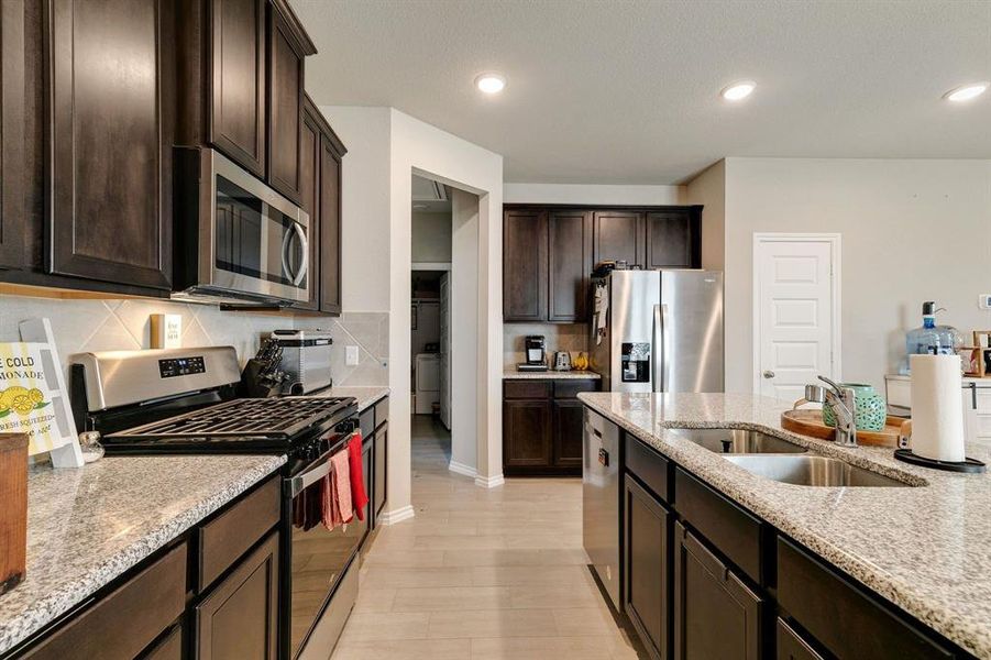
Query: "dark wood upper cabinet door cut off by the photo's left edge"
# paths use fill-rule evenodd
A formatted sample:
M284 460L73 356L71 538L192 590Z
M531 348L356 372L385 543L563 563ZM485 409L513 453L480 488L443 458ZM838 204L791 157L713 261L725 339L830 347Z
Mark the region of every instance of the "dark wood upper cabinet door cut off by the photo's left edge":
M24 0L0 2L0 268L24 265L27 108Z

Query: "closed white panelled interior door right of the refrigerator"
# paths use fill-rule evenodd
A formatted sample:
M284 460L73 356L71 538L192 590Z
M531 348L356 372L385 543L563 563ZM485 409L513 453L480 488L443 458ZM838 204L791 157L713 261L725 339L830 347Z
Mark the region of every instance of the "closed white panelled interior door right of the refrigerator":
M839 378L839 237L755 235L755 392L794 402Z

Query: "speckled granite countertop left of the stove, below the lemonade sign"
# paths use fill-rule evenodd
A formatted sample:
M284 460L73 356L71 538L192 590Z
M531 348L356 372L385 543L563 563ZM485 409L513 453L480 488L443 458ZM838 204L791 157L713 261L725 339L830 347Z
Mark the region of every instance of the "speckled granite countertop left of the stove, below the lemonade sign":
M111 457L31 469L27 572L0 596L0 653L285 463L285 457Z

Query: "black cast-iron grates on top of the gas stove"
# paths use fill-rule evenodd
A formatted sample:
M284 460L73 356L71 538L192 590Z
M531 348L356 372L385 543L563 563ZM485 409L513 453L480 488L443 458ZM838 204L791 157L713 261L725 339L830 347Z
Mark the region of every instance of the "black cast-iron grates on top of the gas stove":
M288 439L319 424L353 399L264 398L234 399L112 433L117 438L227 438Z

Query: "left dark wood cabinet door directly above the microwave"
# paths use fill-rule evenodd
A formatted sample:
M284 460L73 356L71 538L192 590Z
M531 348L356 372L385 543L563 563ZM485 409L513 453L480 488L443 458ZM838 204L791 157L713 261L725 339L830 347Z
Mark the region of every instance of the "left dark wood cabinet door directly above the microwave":
M265 176L266 7L266 0L209 1L208 140L258 176Z

